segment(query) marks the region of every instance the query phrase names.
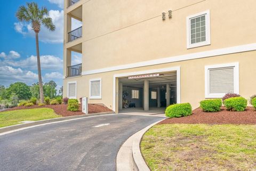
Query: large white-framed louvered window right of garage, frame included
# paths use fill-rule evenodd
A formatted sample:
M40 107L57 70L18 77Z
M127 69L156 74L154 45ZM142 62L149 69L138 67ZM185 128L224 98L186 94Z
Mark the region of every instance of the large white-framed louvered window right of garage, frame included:
M205 66L205 98L239 94L239 63Z

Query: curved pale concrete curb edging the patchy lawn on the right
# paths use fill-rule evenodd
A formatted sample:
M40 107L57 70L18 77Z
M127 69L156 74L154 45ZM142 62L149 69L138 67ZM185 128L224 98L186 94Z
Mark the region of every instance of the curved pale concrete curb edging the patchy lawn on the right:
M156 123L141 129L124 142L116 157L117 171L150 171L140 152L140 141L148 129L161 122L162 120L159 120Z

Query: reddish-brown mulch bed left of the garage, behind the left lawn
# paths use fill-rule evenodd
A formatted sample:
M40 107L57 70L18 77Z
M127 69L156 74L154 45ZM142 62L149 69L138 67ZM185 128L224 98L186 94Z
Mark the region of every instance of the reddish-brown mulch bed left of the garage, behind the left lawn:
M76 115L84 115L82 112L82 107L81 104L79 105L79 110L76 112L73 111L68 111L67 110L68 105L66 104L58 104L58 105L44 105L42 107L39 107L38 105L34 105L32 107L14 107L7 109L5 111L10 111L10 110L19 110L19 109L34 109L34 108L51 108L54 110L54 112L57 115L61 115L63 117L66 116L76 116ZM89 113L100 113L100 112L112 112L112 110L108 109L107 107L103 105L98 105L98 104L88 104L88 112Z

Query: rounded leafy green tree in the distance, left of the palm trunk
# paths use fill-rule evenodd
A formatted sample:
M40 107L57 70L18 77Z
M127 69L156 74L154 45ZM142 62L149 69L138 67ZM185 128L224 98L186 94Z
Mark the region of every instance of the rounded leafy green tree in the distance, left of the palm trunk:
M17 94L19 100L28 100L31 97L30 88L27 84L16 82L14 84L11 84L9 88L7 88L7 93Z

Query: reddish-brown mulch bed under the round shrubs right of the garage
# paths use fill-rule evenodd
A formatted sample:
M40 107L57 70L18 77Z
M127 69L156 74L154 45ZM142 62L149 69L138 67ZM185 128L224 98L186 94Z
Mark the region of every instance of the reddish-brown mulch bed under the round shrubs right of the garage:
M168 118L159 124L256 124L256 111L247 107L245 111L227 111L224 107L219 112L204 112L197 108L192 115L181 118Z

